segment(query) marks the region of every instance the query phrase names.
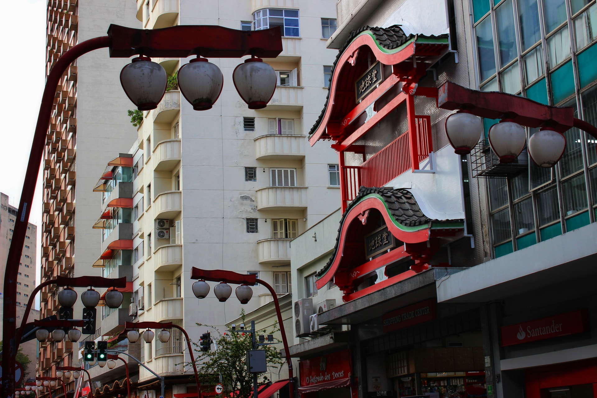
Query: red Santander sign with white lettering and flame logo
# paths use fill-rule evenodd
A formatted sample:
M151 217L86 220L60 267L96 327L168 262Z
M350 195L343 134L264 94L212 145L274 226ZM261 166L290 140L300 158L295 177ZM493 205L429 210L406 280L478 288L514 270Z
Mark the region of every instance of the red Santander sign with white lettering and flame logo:
M586 310L576 310L528 322L501 327L501 345L530 343L531 341L583 333L589 330Z

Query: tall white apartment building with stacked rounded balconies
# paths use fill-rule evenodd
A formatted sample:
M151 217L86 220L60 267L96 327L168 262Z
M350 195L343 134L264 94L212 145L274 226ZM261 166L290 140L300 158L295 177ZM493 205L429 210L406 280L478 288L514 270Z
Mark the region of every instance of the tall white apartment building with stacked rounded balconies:
M196 112L176 85L169 85L158 108L143 112L130 155L113 152L111 158L120 160L106 169L112 171L112 180L96 189L105 192L106 211L117 206L112 207L112 221L96 224L104 229L102 249L113 250L96 257L96 266L115 277L132 266L134 286L128 297L136 308L129 311L130 301L125 300L119 314L110 313L102 323L102 335L112 334L111 326L118 325L107 318L127 318L135 310L136 321L177 323L196 342L207 331L198 322L224 329L239 316L241 304L234 294L219 303L213 292L199 301L192 292L192 267L257 273L279 294L291 292L290 240L330 214L340 199L336 153L324 146L311 148L307 142L307 132L325 103L336 56L325 48L336 27L334 1L209 5L140 0L137 18L147 29L176 24L246 30L281 26L284 50L278 58L264 59L276 70L278 85L265 109L250 110L232 82L232 71L242 60L210 58L224 76L212 109ZM188 60L153 61L174 76ZM100 171L96 178L101 175ZM116 269L108 270L108 263ZM245 310L269 301L266 289L256 286ZM182 363L190 360L186 351L172 331L167 344L141 343L140 356L169 378L167 391L186 393L186 385L189 392L194 385L188 376L181 378L183 372L192 372L183 369ZM153 378L140 368L139 388Z

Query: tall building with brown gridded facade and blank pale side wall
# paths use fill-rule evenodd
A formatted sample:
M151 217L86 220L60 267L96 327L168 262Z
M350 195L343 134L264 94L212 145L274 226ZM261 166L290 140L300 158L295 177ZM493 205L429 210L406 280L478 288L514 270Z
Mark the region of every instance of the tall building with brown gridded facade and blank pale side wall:
M110 23L139 27L134 3L125 0L50 0L47 7L47 73L74 45L106 35ZM127 116L130 101L118 78L126 63L98 50L79 57L61 77L43 159L40 282L59 275L100 275L91 267L101 236L91 228L101 209L92 190L112 153L126 152L136 138ZM41 292L41 317L57 313L57 292L56 286ZM78 301L75 318L81 319L82 308ZM41 343L38 375L55 376L56 366L74 366L78 348L67 341ZM73 380L66 383L73 388Z

